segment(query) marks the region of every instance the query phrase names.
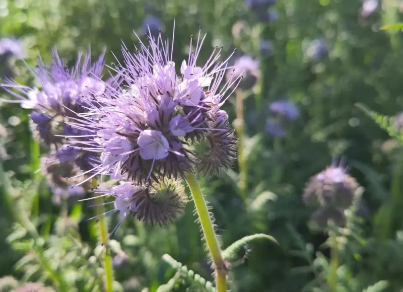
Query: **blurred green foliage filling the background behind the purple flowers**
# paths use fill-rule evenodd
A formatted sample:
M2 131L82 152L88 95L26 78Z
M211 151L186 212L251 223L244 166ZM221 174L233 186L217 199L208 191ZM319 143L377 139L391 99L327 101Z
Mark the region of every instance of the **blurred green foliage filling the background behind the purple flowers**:
M259 23L241 0L0 0L0 37L20 38L27 48L26 61L33 66L38 53L49 61L53 46L74 62L77 51L89 44L94 58L106 47L113 62L109 51L119 58L121 41L135 42L132 30L142 35L143 19L154 15L168 36L175 20L177 64L199 26L207 33L200 60L221 45L227 53L237 48L239 55L259 59L261 79L245 99L247 195L239 195L236 167L220 179L201 180L223 248L255 233L270 234L279 243L257 241L238 251L239 259L247 256L233 264L231 291L399 291L401 141L355 105L388 116L403 108L401 32L380 30L402 17L397 0L384 0L367 19L359 15L360 8L361 2L352 0L278 0L271 9L277 9L279 18ZM244 30L233 35L232 27L240 21ZM264 39L273 42L271 54L259 52ZM304 54L314 39L324 39L329 49L328 57L316 63ZM22 61L13 67L17 81L33 84ZM9 98L5 92L0 96ZM273 138L264 132L268 104L283 97L298 105L300 117L286 137ZM234 104L232 99L226 105L231 118ZM97 245L95 223L85 221L93 210L84 203L52 202L43 177L33 173L39 168L39 150L28 114L15 104L0 103L0 143L9 154L9 159L2 157L4 172L0 169L0 275L19 281L3 277L0 290L31 281L60 291L102 291L103 248ZM373 117L386 129L390 126ZM342 155L365 187L361 208L366 215L334 230L343 243L334 266L329 234L309 228L311 211L301 194L310 176L329 165L332 156ZM128 256L114 269L116 291L210 289L206 281L213 281L212 270L193 208L189 202L176 224L165 228L128 220L123 224L110 244L112 256ZM20 222L29 218L38 234L29 224L16 223L18 216ZM109 226L116 222L110 218ZM172 258L163 260L164 254ZM182 264L187 266L184 275Z

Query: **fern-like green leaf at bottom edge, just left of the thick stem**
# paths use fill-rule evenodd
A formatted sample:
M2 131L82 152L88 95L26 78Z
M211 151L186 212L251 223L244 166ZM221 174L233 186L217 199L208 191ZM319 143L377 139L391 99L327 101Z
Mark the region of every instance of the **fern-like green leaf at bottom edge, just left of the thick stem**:
M205 278L201 277L199 274L196 274L194 271L187 269L186 266L182 265L180 262L177 262L173 259L169 254L164 254L162 259L167 262L172 268L176 269L179 272L179 276L185 282L195 285L198 287L203 287L208 292L215 292L215 287L213 283L207 281ZM172 279L171 279L172 280ZM165 286L164 288L168 288ZM161 290L161 291L168 291L168 290Z

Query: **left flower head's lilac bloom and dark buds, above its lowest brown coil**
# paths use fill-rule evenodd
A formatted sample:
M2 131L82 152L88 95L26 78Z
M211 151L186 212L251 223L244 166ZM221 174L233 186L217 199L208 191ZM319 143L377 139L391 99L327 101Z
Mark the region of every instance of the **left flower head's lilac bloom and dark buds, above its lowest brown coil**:
M63 137L75 136L85 143L91 135L87 129L72 127L67 122L77 122L79 113L87 112L90 100L105 94L108 87L117 87L116 80L107 83L100 80L103 66L104 54L93 63L90 53L84 58L80 53L76 64L69 68L54 49L51 64L44 64L38 57L38 66L31 69L39 88L22 86L13 80L1 86L17 98L7 102L20 103L21 107L33 110L30 124L34 137L52 150L59 148L59 153L65 142ZM69 150L76 152L70 156L71 162L82 158L78 150Z

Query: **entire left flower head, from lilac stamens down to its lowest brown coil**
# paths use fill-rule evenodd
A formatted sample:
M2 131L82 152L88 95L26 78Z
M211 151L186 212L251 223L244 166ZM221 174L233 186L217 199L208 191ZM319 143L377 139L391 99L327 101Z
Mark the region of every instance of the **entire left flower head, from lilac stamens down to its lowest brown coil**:
M77 166L88 168L92 157L79 149L63 145L66 142L63 137L80 136L82 142L88 139L86 129L74 128L68 122L78 122L80 114L87 112L89 100L104 94L106 85L100 80L103 66L103 54L92 63L90 54L82 60L80 53L75 66L69 69L54 49L51 64L45 65L38 58L38 66L31 69L40 88L22 86L10 79L2 85L17 98L7 102L20 103L21 107L32 109L32 131L51 151L50 156L42 158L42 170L55 194L84 193L83 188L71 188L75 181L68 182L65 178L76 175Z

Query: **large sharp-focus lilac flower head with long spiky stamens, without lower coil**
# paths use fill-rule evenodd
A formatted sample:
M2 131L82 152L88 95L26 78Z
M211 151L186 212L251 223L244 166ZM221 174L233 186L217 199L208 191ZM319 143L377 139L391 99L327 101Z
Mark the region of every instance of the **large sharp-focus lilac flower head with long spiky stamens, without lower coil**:
M92 135L84 143L73 136L69 142L74 148L100 154L94 175L108 174L143 185L183 177L210 160L216 160L210 164L214 168L210 173L230 166L236 139L221 106L240 78L231 77L220 87L228 59L218 62L219 48L203 66L197 66L203 42L199 34L195 50L179 71L161 34L157 39L150 37L149 46L141 42L134 54L123 45L124 60L115 70L125 85L97 96L88 112L69 123ZM210 152L194 151L202 142L209 143ZM223 144L227 146L222 148ZM218 147L222 149L217 151Z

